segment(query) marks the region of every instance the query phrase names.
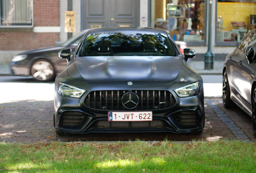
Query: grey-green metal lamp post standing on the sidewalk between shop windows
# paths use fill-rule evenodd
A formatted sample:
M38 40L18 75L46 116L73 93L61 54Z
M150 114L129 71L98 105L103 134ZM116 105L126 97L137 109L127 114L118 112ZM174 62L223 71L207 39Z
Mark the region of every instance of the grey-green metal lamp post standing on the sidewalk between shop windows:
M213 17L213 1L209 0L209 20L208 20L208 46L207 52L204 54L204 70L211 70L214 68L214 54L212 51L212 17Z

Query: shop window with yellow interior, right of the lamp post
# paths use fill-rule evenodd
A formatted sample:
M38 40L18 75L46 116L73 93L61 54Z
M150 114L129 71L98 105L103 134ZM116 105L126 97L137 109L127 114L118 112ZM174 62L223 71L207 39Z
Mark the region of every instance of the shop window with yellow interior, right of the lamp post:
M216 42L235 44L256 28L255 0L218 0Z

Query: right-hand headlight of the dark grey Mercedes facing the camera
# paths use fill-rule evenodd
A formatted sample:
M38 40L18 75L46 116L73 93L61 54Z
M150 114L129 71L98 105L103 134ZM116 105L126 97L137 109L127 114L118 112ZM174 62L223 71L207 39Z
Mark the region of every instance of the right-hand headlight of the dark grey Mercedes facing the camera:
M200 93L200 82L194 82L174 90L179 97L191 97Z

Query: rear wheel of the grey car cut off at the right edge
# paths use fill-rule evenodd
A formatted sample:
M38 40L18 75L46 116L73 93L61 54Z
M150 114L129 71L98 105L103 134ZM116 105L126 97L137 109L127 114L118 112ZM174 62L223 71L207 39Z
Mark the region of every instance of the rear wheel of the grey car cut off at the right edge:
M226 70L223 72L222 101L225 108L229 109L233 107L233 101L230 99L229 80L227 78Z

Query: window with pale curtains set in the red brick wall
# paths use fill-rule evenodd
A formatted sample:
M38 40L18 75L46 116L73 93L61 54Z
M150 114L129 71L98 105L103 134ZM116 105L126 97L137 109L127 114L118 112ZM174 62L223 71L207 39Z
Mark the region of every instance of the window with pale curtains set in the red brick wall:
M0 0L0 27L32 26L33 0Z

